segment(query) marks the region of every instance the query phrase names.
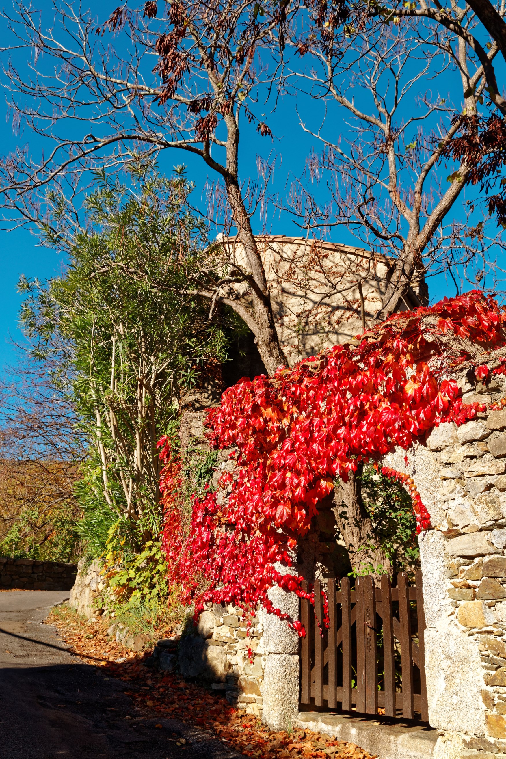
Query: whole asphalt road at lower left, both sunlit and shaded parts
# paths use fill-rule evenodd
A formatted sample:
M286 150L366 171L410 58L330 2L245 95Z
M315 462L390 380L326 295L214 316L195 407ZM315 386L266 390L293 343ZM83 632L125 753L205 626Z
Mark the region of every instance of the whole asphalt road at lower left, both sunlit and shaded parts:
M66 598L0 593L0 759L240 757L179 720L146 718L124 683L71 656L55 628L42 623ZM187 745L176 745L180 737Z

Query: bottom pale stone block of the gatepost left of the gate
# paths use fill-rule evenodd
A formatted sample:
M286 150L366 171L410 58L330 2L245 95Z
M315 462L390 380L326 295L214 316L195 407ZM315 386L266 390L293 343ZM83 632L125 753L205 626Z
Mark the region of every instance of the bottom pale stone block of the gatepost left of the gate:
M272 730L292 732L299 712L299 657L271 653L262 683L262 722Z

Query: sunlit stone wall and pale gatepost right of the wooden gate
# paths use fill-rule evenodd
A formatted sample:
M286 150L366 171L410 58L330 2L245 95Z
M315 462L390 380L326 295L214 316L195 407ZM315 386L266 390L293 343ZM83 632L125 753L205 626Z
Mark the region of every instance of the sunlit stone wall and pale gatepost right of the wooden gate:
M405 455L384 463L431 514L419 543L435 756L506 759L506 410L441 424Z

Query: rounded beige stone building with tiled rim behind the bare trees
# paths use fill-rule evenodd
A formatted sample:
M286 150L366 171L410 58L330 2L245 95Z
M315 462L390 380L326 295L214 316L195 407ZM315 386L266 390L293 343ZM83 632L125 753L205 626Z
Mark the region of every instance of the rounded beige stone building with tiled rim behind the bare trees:
M228 260L247 271L244 248L237 238L223 238L222 242ZM259 237L257 245L279 341L291 366L362 332L359 285L366 323L379 312L394 268L388 257L360 247L285 235ZM247 285L240 288L247 291ZM427 303L420 269L407 291L404 308Z

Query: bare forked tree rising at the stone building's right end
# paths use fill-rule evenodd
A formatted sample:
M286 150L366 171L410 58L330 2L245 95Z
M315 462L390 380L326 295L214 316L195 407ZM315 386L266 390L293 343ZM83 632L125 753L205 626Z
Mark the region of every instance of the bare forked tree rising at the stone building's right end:
M473 162L463 155L449 176L445 170L460 128L452 118L458 96L452 93L451 102L442 92L445 77L460 74L464 109L476 113L487 86L484 64L469 55L464 39L437 27L357 24L362 30L344 47L337 45L342 28L329 31L334 45L304 36L291 40L307 61L294 70L296 86L325 105L317 128L309 109L300 121L322 143L322 153L310 158L310 175L320 184L325 180L330 192L324 206L297 182L297 215L313 227L351 228L372 250L391 257L394 270L376 320L413 301L426 304L426 273L445 272L457 288L458 279L495 288L502 274L491 250L497 236L486 235L474 205L457 203ZM497 50L491 47L487 61Z

